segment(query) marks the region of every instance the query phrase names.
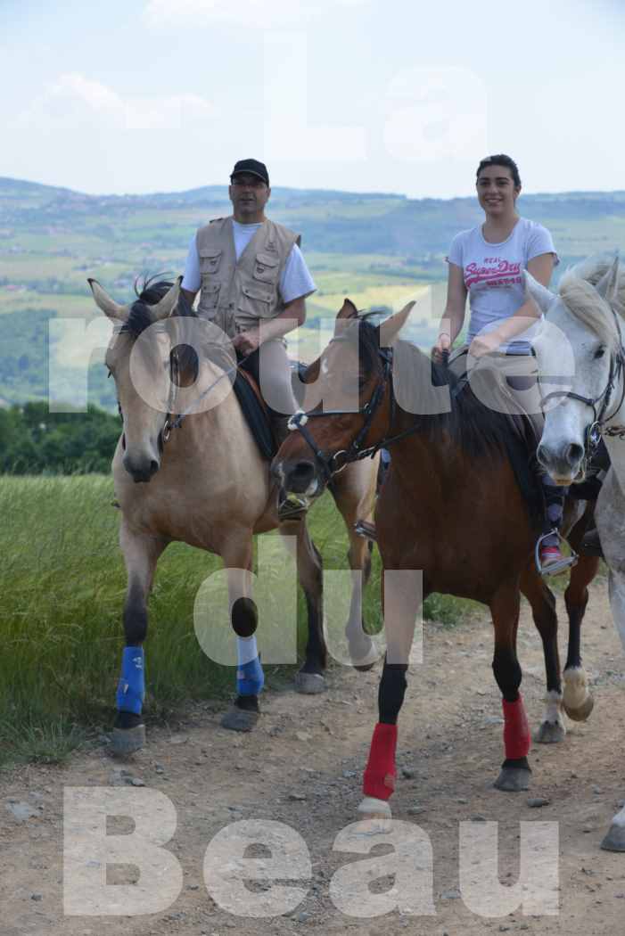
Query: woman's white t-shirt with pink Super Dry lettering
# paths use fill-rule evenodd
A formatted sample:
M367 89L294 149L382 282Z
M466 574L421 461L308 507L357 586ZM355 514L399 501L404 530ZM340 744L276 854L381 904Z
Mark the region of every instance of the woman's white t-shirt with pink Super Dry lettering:
M497 328L502 319L520 309L525 302L522 271L527 270L534 256L541 254L553 254L556 264L560 263L549 231L527 218L519 218L510 236L501 243L485 241L482 225L456 235L447 260L462 269L469 293L469 343L480 331ZM538 323L521 332L514 341L502 344L501 350L529 354L537 327Z

